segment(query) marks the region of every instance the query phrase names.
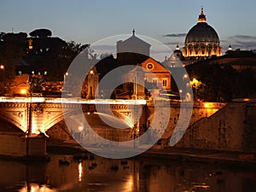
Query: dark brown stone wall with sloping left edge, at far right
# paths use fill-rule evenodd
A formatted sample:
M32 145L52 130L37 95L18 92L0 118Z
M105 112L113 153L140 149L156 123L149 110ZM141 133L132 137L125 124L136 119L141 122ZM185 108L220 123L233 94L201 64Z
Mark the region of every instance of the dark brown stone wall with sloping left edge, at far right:
M256 151L256 103L231 102L190 125L177 147Z

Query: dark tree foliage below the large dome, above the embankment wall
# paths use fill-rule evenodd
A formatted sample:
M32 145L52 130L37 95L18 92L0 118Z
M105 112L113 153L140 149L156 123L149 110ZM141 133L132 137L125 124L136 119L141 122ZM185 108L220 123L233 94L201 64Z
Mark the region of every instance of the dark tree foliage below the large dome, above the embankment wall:
M198 79L201 87L194 90L197 98L207 102L230 102L234 98L255 94L255 76L252 69L241 72L230 65L199 62L187 67L190 79Z

